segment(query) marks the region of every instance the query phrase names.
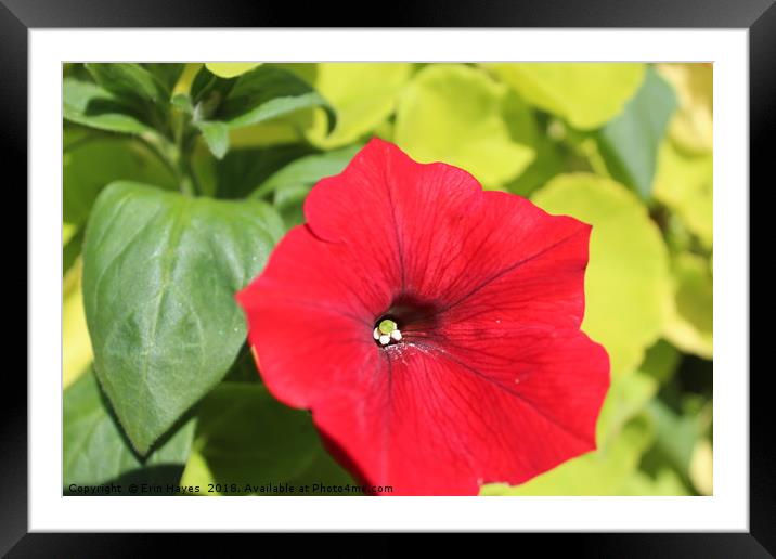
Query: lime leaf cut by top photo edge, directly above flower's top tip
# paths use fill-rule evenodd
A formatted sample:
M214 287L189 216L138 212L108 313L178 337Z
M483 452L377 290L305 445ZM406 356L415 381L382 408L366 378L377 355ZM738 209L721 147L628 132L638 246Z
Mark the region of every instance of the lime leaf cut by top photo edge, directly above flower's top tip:
M318 112L307 138L319 147L339 147L355 142L393 113L397 96L412 73L408 63L320 63L315 89L337 113L337 125L328 133L327 118Z

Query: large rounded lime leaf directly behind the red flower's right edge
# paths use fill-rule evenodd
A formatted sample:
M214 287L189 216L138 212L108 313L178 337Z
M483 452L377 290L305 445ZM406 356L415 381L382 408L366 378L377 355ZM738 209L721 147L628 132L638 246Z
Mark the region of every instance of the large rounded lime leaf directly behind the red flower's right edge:
M582 329L604 344L612 375L632 372L667 315L671 283L659 229L633 193L594 174L558 176L532 199L593 225Z

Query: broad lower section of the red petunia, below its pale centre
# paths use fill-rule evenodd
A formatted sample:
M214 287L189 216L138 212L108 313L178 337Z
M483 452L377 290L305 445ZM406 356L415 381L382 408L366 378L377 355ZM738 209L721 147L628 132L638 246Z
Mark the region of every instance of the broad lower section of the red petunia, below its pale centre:
M397 346L381 385L321 402L313 419L367 483L393 495L522 483L595 448L609 385L606 352L584 334L531 341L501 354Z

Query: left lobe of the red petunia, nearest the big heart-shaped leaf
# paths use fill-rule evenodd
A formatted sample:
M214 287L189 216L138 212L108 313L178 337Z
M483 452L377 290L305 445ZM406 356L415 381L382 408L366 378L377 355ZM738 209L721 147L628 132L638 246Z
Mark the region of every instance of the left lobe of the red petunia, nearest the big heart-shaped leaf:
M379 348L367 316L390 301L379 271L366 275L342 245L294 227L264 272L237 294L264 384L279 400L310 408L320 394L350 391Z

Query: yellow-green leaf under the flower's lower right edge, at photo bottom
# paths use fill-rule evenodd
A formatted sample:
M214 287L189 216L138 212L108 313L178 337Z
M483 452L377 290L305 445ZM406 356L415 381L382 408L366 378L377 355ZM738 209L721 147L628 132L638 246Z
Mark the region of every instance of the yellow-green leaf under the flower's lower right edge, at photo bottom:
M611 444L568 460L522 485L483 485L481 495L622 495L652 440L648 421L631 421Z

